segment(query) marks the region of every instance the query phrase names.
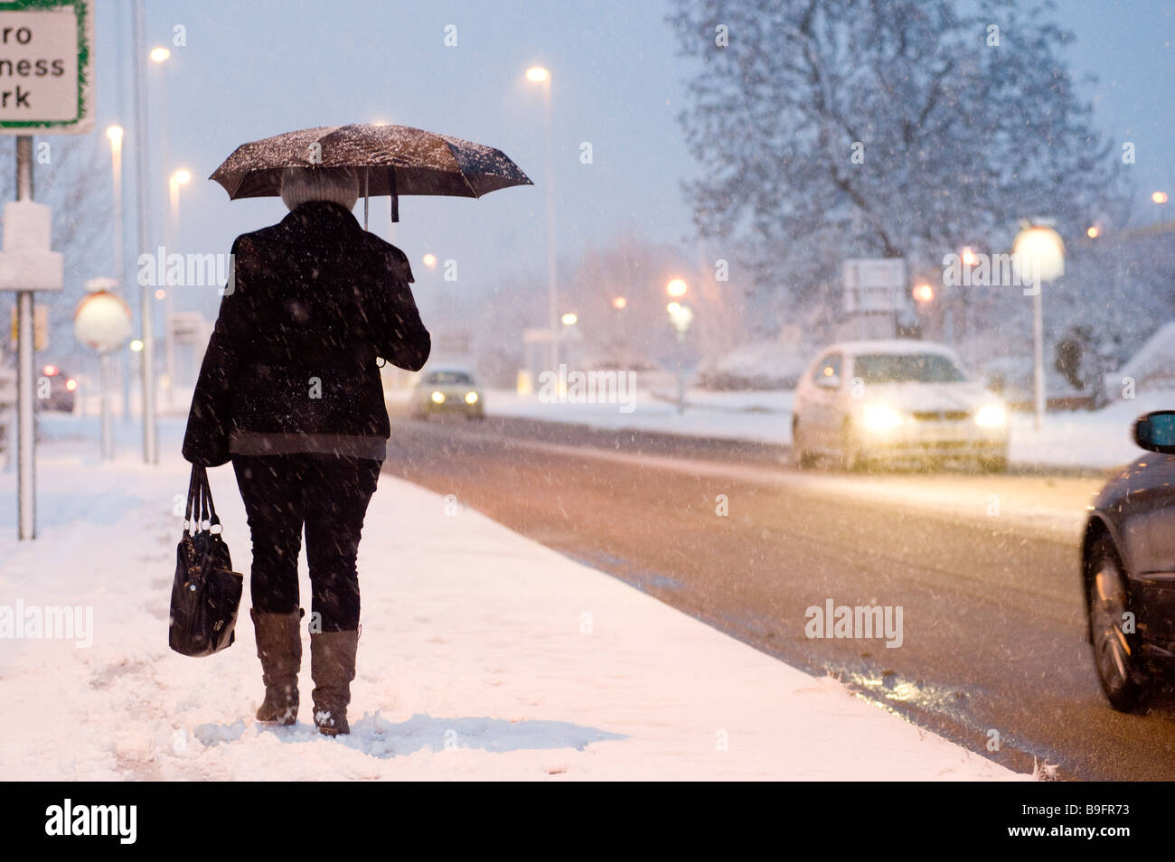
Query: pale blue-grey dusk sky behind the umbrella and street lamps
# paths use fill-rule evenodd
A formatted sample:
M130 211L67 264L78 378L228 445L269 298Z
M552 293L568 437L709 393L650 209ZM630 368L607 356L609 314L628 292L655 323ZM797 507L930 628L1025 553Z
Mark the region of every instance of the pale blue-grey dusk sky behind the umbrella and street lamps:
M1139 215L1146 216L1150 190L1175 188L1175 2L1060 6L1058 20L1077 36L1068 50L1074 70L1100 78L1083 90L1096 103L1100 127L1137 146L1132 175ZM533 63L552 70L560 262L618 236L690 236L680 181L696 166L676 115L696 67L678 54L665 0L152 0L147 7L150 45L170 45L176 25L187 35L166 69L148 67L150 141L160 146L166 119L169 169L188 167L195 177L182 194L183 251L227 251L237 234L284 214L277 198L230 204L206 180L239 143L301 127L382 120L499 147L536 182L476 201L403 198L390 236L408 252L418 281L427 277L419 264L425 252L457 260L459 281L470 290L540 277L543 103L539 88L524 78ZM129 127L130 94L120 87L128 80L129 20L129 4L99 7L99 132L115 121ZM456 47L444 45L446 25L457 28ZM585 141L592 164L579 162ZM372 202L371 225L389 236L387 198ZM215 299L207 299L210 311Z

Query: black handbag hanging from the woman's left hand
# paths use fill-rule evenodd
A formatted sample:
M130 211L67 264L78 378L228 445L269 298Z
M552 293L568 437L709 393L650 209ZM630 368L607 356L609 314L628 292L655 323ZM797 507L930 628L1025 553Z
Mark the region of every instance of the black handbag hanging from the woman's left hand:
M212 655L236 639L244 578L233 571L213 507L208 471L192 467L183 538L175 548L168 645L181 655Z

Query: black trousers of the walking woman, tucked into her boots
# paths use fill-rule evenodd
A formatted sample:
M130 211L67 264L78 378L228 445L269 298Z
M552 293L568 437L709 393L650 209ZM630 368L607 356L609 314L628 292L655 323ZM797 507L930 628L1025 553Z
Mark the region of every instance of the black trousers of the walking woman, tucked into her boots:
M300 607L297 558L304 527L310 631L358 628L355 558L382 464L316 453L233 456L253 537L249 588L260 613Z

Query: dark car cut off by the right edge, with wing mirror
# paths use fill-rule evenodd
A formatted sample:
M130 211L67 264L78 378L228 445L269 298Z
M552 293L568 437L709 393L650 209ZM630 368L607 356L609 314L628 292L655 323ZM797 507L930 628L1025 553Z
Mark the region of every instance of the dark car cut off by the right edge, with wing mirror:
M1094 664L1122 712L1146 709L1175 659L1175 410L1141 417L1134 439L1148 454L1097 494L1081 543Z

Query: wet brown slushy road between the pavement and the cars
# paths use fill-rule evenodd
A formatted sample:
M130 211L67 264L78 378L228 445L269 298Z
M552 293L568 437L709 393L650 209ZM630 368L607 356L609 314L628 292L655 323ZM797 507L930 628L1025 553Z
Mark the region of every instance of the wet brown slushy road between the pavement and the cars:
M385 470L1015 769L1175 779L1169 706L1113 712L1085 641L1097 478L801 473L770 446L405 416ZM901 606L901 646L807 638L830 599Z

